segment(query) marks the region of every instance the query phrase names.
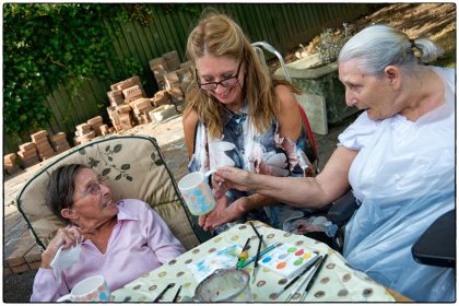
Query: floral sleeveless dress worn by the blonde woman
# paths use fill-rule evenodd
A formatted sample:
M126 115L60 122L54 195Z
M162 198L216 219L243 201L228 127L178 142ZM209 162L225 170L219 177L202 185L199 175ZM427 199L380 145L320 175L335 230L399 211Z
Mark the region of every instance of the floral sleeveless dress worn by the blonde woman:
M258 134L248 119L245 106L239 114L225 109L223 115L223 137L220 140L210 139L205 123L198 122L195 134L195 152L188 169L190 172L207 172L222 166L235 166L257 174L272 176L314 176L316 154L306 128L296 142L282 138L279 133L279 121L273 118L271 127ZM250 192L228 190L226 197L231 204ZM273 227L292 231L292 221L305 219L315 213L313 209L301 209L286 204L270 205L248 212L243 220L259 220ZM290 225L287 225L290 224ZM228 226L232 226L229 224ZM220 233L225 228L216 228Z

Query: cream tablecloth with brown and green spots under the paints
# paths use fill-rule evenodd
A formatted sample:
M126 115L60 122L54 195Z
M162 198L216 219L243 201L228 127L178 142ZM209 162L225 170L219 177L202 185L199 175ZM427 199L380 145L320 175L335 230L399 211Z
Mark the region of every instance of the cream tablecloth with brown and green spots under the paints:
M328 254L327 261L304 302L395 302L392 295L382 285L373 281L366 274L352 270L346 266L345 259L327 245L305 236L269 227L261 222L254 222L254 224L258 232L263 235L267 246L284 243L313 251L316 250L321 255ZM161 302L172 302L180 285L178 302L184 296L193 296L198 282L189 270L188 264L202 260L207 255L233 244L238 244L243 247L247 238L250 238L248 252L249 256L252 256L257 251L258 238L249 224L238 224L132 281L122 289L114 291L113 297L115 302L152 302L168 284L173 284L173 287L163 295ZM250 275L254 263L245 268ZM284 302L290 292L296 286L294 284L279 295L289 281L290 279L283 278L267 268L259 267L255 282L250 280L254 302ZM301 293L295 294L291 302L299 302Z

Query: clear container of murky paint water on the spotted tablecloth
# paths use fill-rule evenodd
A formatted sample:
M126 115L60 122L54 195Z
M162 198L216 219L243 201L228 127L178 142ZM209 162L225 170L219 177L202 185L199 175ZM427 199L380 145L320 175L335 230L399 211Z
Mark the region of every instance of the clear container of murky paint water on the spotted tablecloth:
M254 302L250 275L240 269L219 269L198 284L195 301L214 302Z

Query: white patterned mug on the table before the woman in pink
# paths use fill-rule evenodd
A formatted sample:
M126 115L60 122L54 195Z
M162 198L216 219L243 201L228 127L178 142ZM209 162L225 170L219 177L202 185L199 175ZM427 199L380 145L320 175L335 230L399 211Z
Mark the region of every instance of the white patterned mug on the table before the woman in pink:
M57 302L113 302L104 276L95 275L79 282L69 294Z

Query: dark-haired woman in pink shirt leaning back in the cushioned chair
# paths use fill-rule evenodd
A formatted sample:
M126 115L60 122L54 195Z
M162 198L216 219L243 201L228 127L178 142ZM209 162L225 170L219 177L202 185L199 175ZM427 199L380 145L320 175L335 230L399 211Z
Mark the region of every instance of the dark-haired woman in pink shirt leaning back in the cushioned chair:
M114 202L110 189L84 165L57 168L47 203L69 225L60 228L42 254L31 302L52 302L80 281L104 275L114 291L185 252L166 223L140 200ZM79 261L55 279L50 262L58 249L81 244Z

